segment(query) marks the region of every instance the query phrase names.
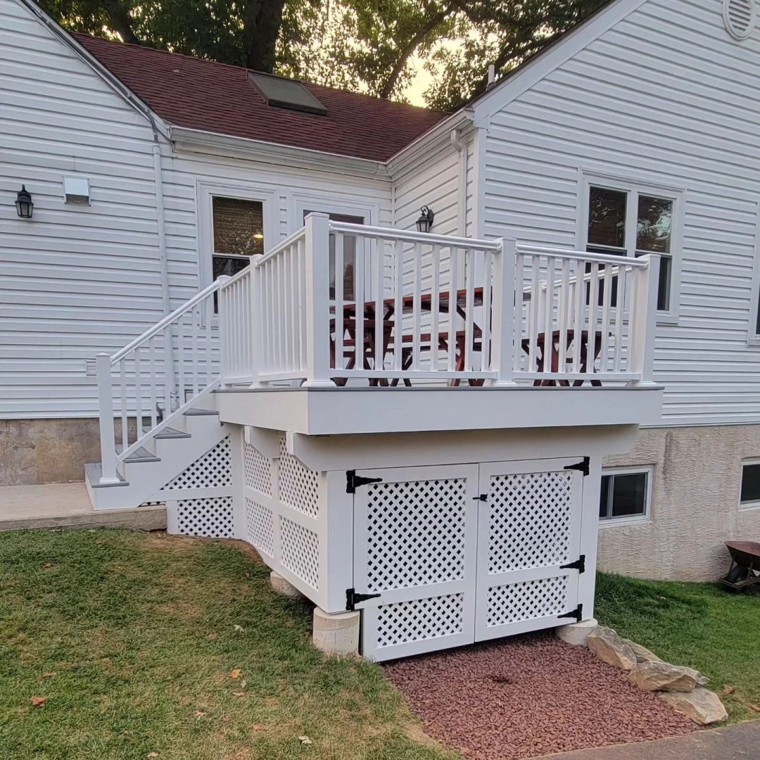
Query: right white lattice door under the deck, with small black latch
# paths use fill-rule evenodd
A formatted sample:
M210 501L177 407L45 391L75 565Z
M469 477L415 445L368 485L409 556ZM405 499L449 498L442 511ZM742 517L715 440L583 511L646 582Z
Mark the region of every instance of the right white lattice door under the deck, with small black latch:
M578 458L480 466L475 638L575 622L582 572ZM581 469L578 469L581 467Z

